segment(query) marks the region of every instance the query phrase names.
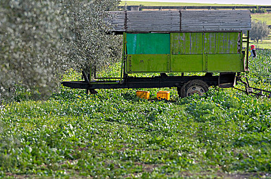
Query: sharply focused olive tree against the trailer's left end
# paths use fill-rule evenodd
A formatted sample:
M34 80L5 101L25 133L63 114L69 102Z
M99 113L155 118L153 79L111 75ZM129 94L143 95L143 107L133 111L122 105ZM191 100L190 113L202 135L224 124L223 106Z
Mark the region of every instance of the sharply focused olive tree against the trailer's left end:
M114 18L108 11L115 10L119 0L96 1L64 1L66 11L69 11L67 31L72 40L67 40L70 50L69 58L79 70L92 69L96 64L103 69L116 62L121 55L121 40L119 36L110 33L112 28L105 19Z

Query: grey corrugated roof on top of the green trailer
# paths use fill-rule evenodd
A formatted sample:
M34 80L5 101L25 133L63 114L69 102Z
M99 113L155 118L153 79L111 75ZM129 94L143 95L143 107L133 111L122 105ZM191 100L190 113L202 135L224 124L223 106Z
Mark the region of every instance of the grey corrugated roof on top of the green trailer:
M251 29L249 10L112 11L115 32L241 31Z

